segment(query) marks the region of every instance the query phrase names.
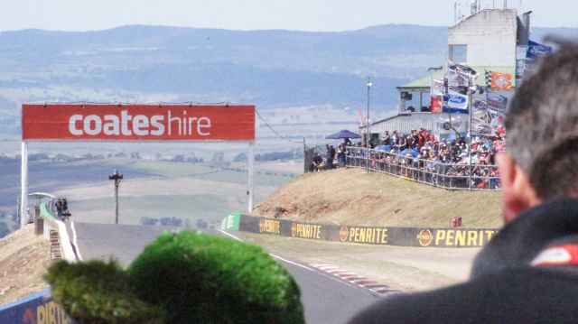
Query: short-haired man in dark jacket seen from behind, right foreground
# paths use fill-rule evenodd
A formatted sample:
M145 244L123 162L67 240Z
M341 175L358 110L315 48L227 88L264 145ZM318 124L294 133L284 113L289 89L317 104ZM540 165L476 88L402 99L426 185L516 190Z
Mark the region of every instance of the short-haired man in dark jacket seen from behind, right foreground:
M395 295L352 323L578 322L578 44L559 43L517 90L498 153L505 227L468 282Z

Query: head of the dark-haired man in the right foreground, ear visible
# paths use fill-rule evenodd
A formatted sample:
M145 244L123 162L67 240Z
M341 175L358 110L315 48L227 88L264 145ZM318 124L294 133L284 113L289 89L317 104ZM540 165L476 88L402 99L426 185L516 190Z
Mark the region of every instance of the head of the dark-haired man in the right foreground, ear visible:
M508 152L497 160L507 222L542 201L578 197L578 44L560 42L524 81L506 129Z

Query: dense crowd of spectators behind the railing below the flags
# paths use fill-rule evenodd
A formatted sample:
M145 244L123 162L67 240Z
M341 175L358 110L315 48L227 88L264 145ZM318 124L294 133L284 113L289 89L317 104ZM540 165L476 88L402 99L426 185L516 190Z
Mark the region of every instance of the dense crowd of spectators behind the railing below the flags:
M386 131L380 144L370 144L369 167L441 187L498 189L494 157L503 148L504 134L474 137L471 148L469 142L463 136L439 140L424 128L410 134ZM364 142L350 151L351 161L365 164Z

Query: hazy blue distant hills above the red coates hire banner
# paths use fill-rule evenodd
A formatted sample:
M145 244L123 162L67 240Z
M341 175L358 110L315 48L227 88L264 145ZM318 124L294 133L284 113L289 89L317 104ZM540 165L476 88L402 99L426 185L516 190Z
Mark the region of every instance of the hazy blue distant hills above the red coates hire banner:
M575 36L575 29L535 28ZM0 33L0 133L23 102L233 102L261 109L396 105L395 87L444 62L446 27L239 32L125 26L99 32Z

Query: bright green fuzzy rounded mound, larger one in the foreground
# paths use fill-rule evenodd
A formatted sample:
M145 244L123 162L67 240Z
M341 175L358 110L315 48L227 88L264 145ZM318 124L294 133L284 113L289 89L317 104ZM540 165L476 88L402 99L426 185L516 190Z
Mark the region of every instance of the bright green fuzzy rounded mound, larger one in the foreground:
M137 295L174 323L303 323L299 288L261 248L194 232L163 234L127 270Z

